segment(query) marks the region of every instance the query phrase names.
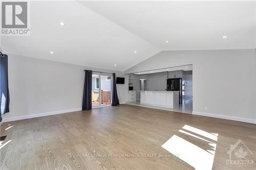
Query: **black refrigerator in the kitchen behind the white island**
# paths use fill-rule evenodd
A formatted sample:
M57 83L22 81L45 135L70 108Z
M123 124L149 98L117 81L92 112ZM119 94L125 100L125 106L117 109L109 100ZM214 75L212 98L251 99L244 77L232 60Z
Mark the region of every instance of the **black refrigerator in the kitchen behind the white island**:
M179 91L179 103L182 104L181 78L167 79L167 91Z

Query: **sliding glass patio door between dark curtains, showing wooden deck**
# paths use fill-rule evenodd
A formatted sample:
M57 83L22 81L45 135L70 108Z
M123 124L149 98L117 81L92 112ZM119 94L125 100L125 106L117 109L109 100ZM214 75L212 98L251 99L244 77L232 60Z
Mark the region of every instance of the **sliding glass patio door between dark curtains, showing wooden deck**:
M111 106L112 75L93 72L92 107Z

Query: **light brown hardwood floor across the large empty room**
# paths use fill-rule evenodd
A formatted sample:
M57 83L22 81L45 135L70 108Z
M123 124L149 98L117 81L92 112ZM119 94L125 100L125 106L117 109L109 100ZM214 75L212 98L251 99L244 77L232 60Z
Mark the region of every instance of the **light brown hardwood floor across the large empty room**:
M256 168L256 125L139 106L7 122L3 135L1 169ZM253 167L227 166L239 139Z

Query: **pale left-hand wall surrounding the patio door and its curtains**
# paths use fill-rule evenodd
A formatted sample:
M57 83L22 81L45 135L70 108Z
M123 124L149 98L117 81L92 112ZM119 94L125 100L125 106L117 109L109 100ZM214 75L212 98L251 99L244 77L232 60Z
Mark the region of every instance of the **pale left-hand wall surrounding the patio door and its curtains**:
M120 71L8 55L10 112L2 115L3 121L81 110L83 69L116 72L125 77ZM124 103L127 85L117 86L120 103Z

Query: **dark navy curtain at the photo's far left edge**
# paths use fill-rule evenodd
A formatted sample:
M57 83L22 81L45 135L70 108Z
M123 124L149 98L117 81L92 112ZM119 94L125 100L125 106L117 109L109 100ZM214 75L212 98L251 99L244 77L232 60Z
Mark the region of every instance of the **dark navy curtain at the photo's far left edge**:
M0 60L0 104L1 114L0 122L2 121L2 114L9 112L9 88L8 88L8 56L1 53Z

